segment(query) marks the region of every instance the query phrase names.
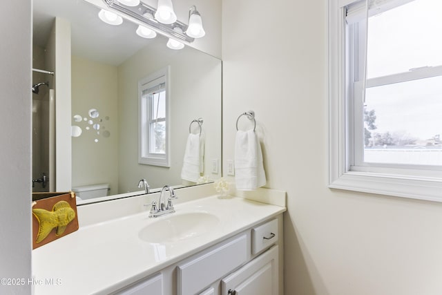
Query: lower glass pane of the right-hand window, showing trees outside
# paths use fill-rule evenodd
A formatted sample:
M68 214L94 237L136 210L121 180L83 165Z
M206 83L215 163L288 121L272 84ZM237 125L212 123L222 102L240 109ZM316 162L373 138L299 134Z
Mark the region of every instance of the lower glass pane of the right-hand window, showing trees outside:
M367 88L364 162L442 165L442 77Z

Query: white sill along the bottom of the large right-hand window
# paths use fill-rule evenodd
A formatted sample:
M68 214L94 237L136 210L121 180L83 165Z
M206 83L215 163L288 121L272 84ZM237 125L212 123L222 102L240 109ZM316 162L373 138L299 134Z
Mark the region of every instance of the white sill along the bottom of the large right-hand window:
M331 181L329 188L442 202L440 178L349 171Z

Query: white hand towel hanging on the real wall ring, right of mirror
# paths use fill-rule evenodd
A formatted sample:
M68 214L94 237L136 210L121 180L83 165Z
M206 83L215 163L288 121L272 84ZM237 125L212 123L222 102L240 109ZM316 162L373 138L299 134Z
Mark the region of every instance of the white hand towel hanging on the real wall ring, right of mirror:
M253 130L236 133L235 181L240 191L253 191L266 183L261 146Z

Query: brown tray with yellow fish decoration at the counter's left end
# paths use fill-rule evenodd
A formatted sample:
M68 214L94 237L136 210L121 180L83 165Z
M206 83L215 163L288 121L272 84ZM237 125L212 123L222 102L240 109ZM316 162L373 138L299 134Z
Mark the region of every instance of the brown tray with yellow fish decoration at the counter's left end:
M77 229L75 193L32 193L32 249Z

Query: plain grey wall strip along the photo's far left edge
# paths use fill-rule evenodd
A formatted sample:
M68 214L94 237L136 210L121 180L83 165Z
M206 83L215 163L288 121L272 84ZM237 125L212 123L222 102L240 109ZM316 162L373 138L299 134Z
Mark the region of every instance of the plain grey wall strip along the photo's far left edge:
M0 278L31 274L31 6L3 3L0 18ZM20 16L20 17L17 17ZM0 294L30 294L30 285Z

